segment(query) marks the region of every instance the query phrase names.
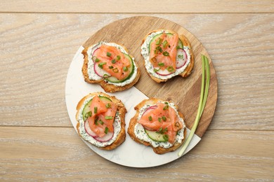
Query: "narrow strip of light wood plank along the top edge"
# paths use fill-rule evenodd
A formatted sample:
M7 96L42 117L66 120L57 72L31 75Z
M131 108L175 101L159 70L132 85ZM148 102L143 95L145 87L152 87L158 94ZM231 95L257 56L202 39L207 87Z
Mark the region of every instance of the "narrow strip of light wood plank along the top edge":
M124 8L123 8L124 7ZM55 13L273 13L271 0L261 1L1 1L2 12Z

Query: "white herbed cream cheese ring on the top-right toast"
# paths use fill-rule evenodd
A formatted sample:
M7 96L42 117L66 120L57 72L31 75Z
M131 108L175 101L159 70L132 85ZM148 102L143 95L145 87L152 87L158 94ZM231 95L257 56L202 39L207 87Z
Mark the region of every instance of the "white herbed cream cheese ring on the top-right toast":
M164 30L153 32L145 39L144 43L141 45L141 55L143 55L143 58L145 59L145 69L148 71L148 73L150 73L150 75L162 80L172 78L182 73L183 71L185 71L185 68L190 63L190 50L189 50L190 48L188 46L183 46L183 50L185 50L185 53L187 55L187 61L184 66L182 66L179 69L176 69L174 73L171 73L167 76L162 76L155 72L155 68L150 62L150 41L152 40L153 37L157 36L158 34L162 34L164 32L170 33L169 31L164 31Z

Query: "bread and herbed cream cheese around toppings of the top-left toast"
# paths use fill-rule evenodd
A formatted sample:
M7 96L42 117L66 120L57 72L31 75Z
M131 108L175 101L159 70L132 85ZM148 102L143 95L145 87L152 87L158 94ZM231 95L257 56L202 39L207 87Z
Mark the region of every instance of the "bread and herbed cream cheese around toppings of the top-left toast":
M98 76L94 72L95 64L91 64L91 62L93 62L91 57L92 57L93 51L96 50L96 48L100 48L100 46L103 44L117 46L117 48L118 47L121 48L122 52L124 52L126 55L131 57L133 62L133 73L131 74L129 79L126 79L119 83L112 82L111 80L107 80L103 76ZM84 48L84 50L81 53L84 55L84 64L81 69L84 76L84 80L86 81L86 83L99 84L103 88L103 90L105 90L105 92L118 92L118 91L126 90L132 87L134 84L136 84L138 82L138 79L141 76L141 72L138 69L138 65L136 64L134 57L132 55L129 55L128 50L123 45L118 45L117 43L99 42L97 44Z

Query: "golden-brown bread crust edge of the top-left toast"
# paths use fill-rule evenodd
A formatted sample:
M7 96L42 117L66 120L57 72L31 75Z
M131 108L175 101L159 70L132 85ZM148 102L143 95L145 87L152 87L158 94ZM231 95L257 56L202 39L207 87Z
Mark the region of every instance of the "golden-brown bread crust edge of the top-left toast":
M122 46L122 45L121 45ZM124 50L126 50L126 52L128 52L128 50L122 46L124 48ZM105 92L118 92L118 91L122 91L122 90L126 90L130 87L132 87L135 83L138 82L140 76L141 76L141 72L140 70L138 69L138 65L136 65L137 67L137 75L136 75L136 78L134 78L134 80L129 83L128 85L124 85L124 86L117 86L117 85L113 85L111 83L107 83L105 82L105 80L102 78L101 80L90 80L89 79L89 72L88 72L88 63L89 63L89 55L87 53L87 51L89 50L90 47L87 47L87 48L84 48L84 50L82 50L82 54L84 55L84 64L82 66L82 73L83 73L83 76L84 76L84 80L86 81L86 83L97 83L99 84L103 90L105 90ZM132 55L129 55L131 57L131 59L133 58ZM135 62L135 61L133 61ZM136 63L136 62L135 62Z

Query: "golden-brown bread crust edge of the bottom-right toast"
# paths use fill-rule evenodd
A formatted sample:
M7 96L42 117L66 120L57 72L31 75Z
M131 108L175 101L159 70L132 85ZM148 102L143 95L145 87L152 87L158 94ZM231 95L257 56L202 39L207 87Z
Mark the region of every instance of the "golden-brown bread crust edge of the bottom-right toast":
M134 109L136 110L136 114L133 118L131 118L130 122L129 122L129 127L128 127L128 134L129 136L131 137L131 139L133 139L133 141L136 141L137 143L139 144L143 144L145 146L150 146L152 147L153 151L157 154L164 154L164 153L168 153L168 152L171 152L171 151L175 151L177 148L179 148L182 144L183 144L183 141L185 140L185 137L186 137L186 130L184 130L184 139L183 141L181 142L181 144L179 143L175 143L174 146L172 146L171 148L162 148L162 147L153 147L150 143L146 142L146 141L143 141L141 139L138 139L135 134L134 134L134 127L135 125L138 123L138 115L140 113L140 109L145 106L146 104L156 104L157 102L159 101L162 101L161 99L155 99L155 98L152 98L152 99L145 99L143 100L142 102L140 102L137 106L134 107ZM178 110L178 107L176 106L176 109ZM181 118L183 118L183 114L178 112L179 113L179 116Z

